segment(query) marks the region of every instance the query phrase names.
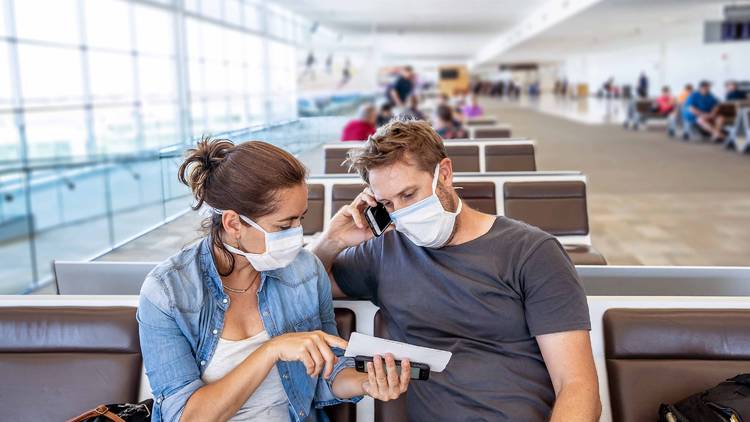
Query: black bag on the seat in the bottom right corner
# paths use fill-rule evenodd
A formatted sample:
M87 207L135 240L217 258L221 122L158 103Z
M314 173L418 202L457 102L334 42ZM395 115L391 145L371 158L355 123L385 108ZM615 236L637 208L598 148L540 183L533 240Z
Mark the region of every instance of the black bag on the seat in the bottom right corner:
M662 404L659 421L750 422L750 374L729 378L675 404Z

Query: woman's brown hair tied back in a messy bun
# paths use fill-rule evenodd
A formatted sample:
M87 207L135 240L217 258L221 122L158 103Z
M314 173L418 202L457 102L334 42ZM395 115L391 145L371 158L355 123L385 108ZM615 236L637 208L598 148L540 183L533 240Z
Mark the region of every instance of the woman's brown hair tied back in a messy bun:
M187 151L178 178L193 191L194 210L206 204L255 219L276 211L277 192L304 183L306 173L305 166L292 154L269 143L235 145L229 139L204 138ZM230 262L229 271L219 269L219 274L231 274L234 255L221 241L221 215L212 213L201 227Z

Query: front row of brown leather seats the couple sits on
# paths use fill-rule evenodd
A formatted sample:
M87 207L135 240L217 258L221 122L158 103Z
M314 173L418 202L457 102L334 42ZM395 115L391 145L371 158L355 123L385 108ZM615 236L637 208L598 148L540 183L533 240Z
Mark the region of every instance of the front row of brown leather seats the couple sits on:
M137 299L0 297L3 419L59 421L101 403L150 397L135 320ZM663 298L663 304L682 306L675 309L636 309L627 306L630 299L589 297L603 421L654 420L660 403L750 372L750 310L736 309L746 306L747 298L736 303L714 297L703 308ZM334 306L343 338L353 331L390 337L371 303L336 301ZM40 385L44 400L39 400ZM405 402L405 397L374 405L365 400L326 411L334 422L400 422L409 420Z

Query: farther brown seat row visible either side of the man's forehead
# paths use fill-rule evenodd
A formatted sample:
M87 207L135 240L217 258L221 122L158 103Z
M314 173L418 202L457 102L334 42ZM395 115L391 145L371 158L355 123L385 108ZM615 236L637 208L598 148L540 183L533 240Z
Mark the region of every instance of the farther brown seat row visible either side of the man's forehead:
M343 165L346 155L357 145L329 144L323 146L325 174L350 173ZM446 141L445 150L456 173L487 171L536 171L534 141L493 139L487 141Z

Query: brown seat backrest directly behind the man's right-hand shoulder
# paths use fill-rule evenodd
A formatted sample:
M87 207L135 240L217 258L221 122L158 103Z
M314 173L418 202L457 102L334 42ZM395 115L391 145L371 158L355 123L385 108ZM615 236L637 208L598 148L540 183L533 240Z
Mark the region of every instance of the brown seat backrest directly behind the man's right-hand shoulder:
M506 217L555 236L589 234L584 182L508 182L503 196Z

